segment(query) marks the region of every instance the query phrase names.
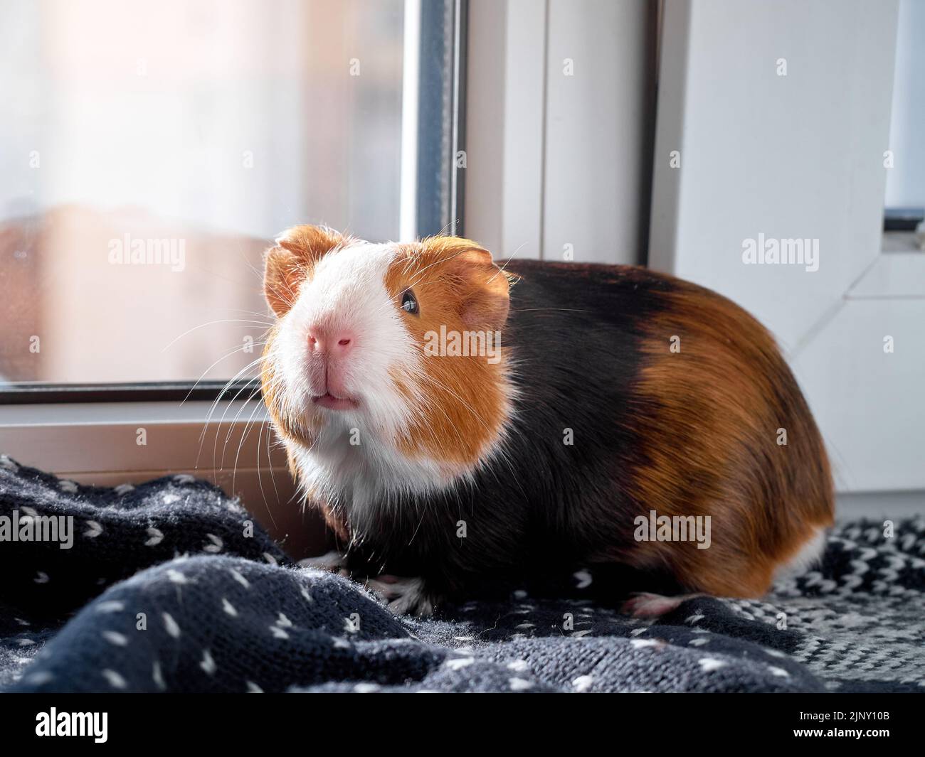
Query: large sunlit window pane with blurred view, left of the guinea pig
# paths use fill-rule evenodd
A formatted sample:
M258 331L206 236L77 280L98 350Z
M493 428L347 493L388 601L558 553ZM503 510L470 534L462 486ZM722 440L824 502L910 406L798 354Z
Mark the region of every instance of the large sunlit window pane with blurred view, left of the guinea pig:
M282 229L395 239L457 218L461 7L0 6L4 397L214 392L256 370Z

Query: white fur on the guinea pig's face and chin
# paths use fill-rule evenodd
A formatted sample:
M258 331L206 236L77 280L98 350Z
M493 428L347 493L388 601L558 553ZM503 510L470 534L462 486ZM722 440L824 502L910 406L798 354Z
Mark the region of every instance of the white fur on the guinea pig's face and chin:
M277 366L282 411L290 418L316 415L323 421L311 448L287 440L302 489L349 508L351 525L358 531L375 526L378 507L388 507L405 494L442 491L473 472L459 464L409 458L400 451L402 434L423 412L428 397L420 380L423 352L385 284L396 255L394 245L363 241L328 252L280 320L268 356ZM350 353L339 358L338 375L344 394L357 400L356 409L333 410L313 403L317 387L310 379L308 333L314 324L345 328L355 336ZM401 393L396 374L412 397ZM507 415L509 409L505 410ZM503 454L502 429L488 445L483 464Z

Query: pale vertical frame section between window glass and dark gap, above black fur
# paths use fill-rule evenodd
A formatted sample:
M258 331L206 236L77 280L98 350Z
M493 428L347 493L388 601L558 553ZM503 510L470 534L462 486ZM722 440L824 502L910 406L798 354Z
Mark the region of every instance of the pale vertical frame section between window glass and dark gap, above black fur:
M500 257L640 260L652 7L471 2L467 236Z

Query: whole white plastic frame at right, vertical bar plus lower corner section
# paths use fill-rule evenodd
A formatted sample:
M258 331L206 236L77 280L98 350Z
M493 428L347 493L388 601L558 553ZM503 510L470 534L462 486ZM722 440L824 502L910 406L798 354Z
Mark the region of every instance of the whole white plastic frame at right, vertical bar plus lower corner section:
M925 488L925 256L881 253L897 7L665 6L649 261L778 337L841 492ZM744 263L759 234L818 239L819 270Z

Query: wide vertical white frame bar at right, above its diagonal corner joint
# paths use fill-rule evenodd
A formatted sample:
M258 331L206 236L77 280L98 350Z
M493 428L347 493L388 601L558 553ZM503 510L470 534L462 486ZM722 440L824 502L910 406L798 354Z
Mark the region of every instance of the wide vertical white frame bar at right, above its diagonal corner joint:
M895 22L890 0L668 3L650 264L796 348L880 249ZM820 271L743 264L761 233L818 238Z

